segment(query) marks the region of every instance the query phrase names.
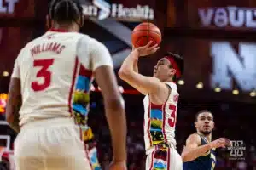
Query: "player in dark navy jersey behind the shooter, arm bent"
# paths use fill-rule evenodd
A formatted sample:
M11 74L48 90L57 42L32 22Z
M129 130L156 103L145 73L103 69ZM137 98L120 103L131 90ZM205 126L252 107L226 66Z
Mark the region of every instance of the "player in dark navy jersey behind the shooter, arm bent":
M196 133L186 140L183 149L183 170L213 170L216 164L215 149L230 146L230 140L220 138L212 141L213 116L210 111L195 115ZM212 142L211 142L212 141Z

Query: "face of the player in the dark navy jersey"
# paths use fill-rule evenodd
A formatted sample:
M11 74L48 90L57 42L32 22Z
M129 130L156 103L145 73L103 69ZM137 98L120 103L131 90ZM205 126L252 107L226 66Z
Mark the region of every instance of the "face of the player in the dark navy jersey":
M197 116L196 129L205 135L212 133L214 127L213 116L209 112L202 112Z

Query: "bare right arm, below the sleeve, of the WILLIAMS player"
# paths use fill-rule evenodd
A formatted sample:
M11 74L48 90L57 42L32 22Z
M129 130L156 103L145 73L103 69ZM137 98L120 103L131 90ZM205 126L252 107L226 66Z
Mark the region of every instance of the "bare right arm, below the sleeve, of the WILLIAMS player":
M116 77L109 66L101 66L95 71L96 82L102 89L108 126L112 137L113 159L126 160L126 120L125 102L119 93Z

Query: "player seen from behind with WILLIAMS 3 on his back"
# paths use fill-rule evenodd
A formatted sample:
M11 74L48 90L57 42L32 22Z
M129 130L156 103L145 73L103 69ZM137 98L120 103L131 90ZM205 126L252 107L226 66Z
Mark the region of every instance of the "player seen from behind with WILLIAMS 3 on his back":
M102 89L112 136L109 169L125 170L124 99L108 49L78 33L84 24L78 2L52 1L48 23L49 31L20 50L9 84L6 120L19 132L17 170L91 169L80 127L86 124L93 76Z

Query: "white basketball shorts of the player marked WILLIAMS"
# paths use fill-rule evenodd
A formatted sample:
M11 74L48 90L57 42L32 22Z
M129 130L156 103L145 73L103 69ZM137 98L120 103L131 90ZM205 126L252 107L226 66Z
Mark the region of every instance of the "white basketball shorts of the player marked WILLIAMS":
M68 117L27 123L15 139L16 170L90 170L80 135Z

